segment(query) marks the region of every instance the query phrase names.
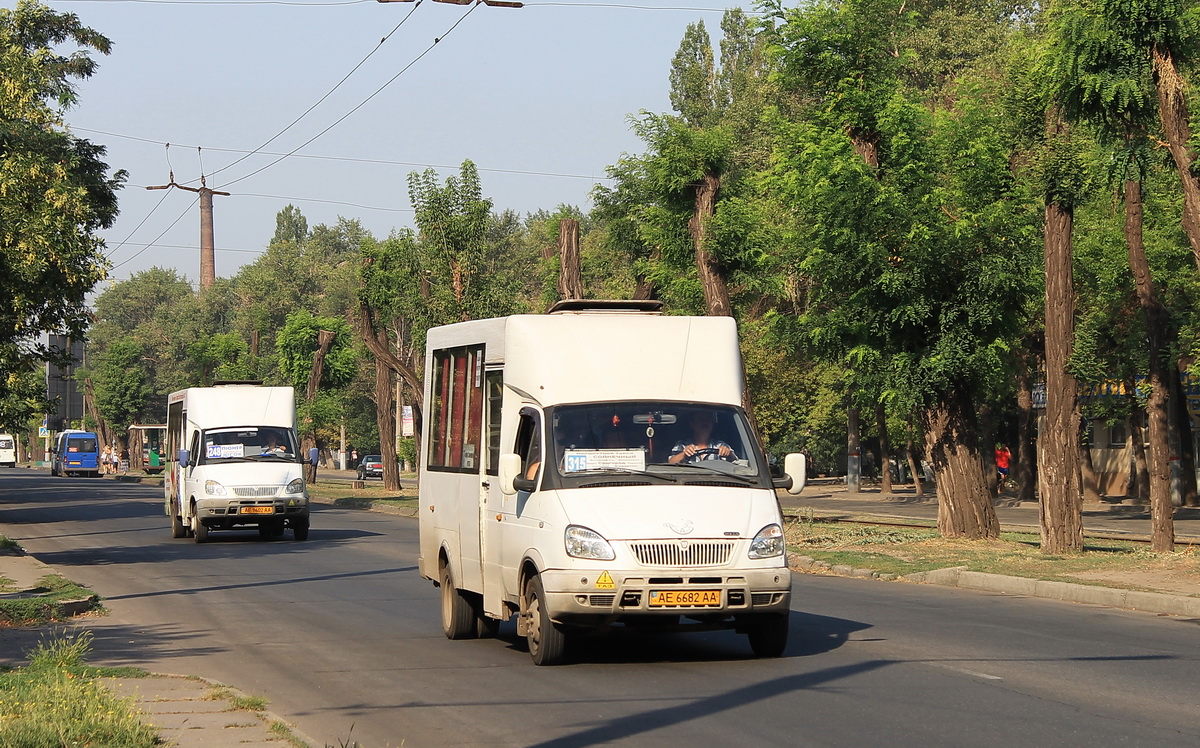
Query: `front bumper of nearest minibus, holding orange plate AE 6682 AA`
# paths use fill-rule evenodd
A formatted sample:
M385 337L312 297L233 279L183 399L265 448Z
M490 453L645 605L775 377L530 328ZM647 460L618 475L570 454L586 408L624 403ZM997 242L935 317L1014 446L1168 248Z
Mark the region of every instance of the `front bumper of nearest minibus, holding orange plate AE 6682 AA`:
M605 576L607 575L607 576ZM550 617L617 621L641 616L727 618L746 614L782 614L792 602L786 568L767 569L580 569L541 573ZM610 586L611 585L611 586ZM652 605L652 592L719 592L719 604ZM655 598L660 596L655 594Z

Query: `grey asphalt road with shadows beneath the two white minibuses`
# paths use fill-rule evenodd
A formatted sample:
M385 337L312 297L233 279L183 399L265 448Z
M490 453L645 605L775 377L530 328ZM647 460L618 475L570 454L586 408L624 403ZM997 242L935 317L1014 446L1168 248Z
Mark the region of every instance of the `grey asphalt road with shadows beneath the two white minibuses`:
M197 545L157 489L5 469L0 534L106 598L94 662L216 678L330 746L1200 746L1198 621L797 574L782 658L613 635L535 668L511 623L442 636L404 517Z

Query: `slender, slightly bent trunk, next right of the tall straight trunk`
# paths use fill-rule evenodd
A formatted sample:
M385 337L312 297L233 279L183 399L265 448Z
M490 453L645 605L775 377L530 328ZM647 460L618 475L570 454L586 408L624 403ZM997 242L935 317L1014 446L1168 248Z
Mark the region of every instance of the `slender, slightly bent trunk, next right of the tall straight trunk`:
M1175 550L1175 507L1171 505L1171 447L1168 435L1166 399L1170 388L1163 360L1166 340L1166 310L1158 301L1142 244L1141 182L1126 180L1126 246L1133 271L1138 305L1146 321L1150 376L1150 545L1158 553Z

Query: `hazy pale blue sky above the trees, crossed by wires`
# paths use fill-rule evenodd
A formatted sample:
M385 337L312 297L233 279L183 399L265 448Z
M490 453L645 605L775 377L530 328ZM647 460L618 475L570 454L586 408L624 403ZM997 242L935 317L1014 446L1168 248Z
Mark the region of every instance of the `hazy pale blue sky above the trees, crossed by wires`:
M128 173L103 286L154 265L197 283L197 195L145 189L172 173L230 192L214 197L218 277L265 251L288 204L310 228L410 227L408 174L468 158L497 211L589 210L606 167L644 150L630 116L671 110L688 24L715 46L730 7L635 1L47 0L113 42L65 118Z

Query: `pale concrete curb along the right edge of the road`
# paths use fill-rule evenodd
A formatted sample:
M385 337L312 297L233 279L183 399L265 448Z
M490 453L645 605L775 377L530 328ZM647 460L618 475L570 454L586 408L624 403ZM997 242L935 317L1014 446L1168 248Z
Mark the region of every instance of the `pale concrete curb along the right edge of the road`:
M1139 610L1168 616L1186 616L1200 618L1200 598L1163 592L1140 592L1138 590L1116 590L1114 587L1093 587L1074 582L1057 582L1024 576L1007 576L970 572L967 567L950 567L918 572L916 574L881 574L871 569L854 569L845 564L830 564L810 556L787 555L787 566L802 573L829 573L838 576L856 576L882 581L906 581L920 585L940 585L960 587L980 592L998 592L1001 594L1019 594L1031 598L1063 600L1067 603L1086 603L1105 608Z

